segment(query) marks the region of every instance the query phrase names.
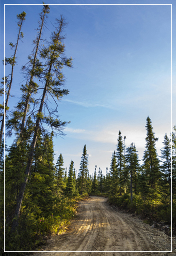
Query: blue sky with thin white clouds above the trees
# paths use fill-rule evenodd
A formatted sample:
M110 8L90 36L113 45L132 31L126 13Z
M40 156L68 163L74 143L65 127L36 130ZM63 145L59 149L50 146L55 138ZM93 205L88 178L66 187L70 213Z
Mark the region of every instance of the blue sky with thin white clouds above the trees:
M78 172L84 145L89 154L89 172L94 166L105 173L116 150L119 130L126 136L125 145L135 143L142 159L145 150L146 119L152 120L159 138L158 154L165 133L171 132L171 5L167 1L49 1L50 13L43 37L49 38L52 23L62 14L66 28L66 55L72 56L73 68L64 69L65 88L70 94L59 103L61 120L71 121L63 138L54 138L55 159L63 155L65 167L74 161ZM175 4L172 5L172 126L176 124L175 102ZM17 38L17 14L26 12L23 43L20 42L18 65L15 66L9 103L19 101L20 84L24 82L21 66L33 49L41 5L28 1L1 1L1 38L5 56L10 56L8 43ZM41 4L30 1L30 4ZM60 4L68 5L60 5ZM25 4L25 5L12 5ZM56 5L59 4L59 5ZM77 5L69 5L77 4ZM108 5L103 5L108 4ZM111 1L111 4L122 4ZM124 5L127 4L127 5ZM139 5L129 5L139 4ZM149 5L140 5L149 4ZM157 4L157 5L150 5ZM162 5L158 5L162 4ZM19 55L18 55L19 54ZM4 42L1 40L1 59ZM1 77L4 67L1 65ZM8 67L6 69L8 74ZM7 144L11 139L7 139Z

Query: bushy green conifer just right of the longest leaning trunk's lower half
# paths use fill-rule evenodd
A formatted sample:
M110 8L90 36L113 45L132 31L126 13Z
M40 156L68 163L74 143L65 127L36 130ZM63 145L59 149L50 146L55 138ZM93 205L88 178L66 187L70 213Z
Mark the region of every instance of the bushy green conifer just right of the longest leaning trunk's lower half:
M26 197L26 200L31 200L31 206L39 207L39 212L43 216L49 216L54 202L54 134L45 133L43 138L40 136L36 143L34 152L34 163L31 166L31 175L27 184L25 194L31 196ZM47 207L46 207L47 205Z

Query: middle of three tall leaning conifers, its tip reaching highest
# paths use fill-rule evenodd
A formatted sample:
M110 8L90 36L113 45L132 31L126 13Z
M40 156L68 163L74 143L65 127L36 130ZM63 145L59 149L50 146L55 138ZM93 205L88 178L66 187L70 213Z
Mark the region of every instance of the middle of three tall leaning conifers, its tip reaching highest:
M19 136L18 144L22 142L23 134L26 130L25 122L27 112L30 107L29 104L35 103L35 99L32 97L32 94L37 93L38 84L34 81L34 77L40 78L43 71L42 63L37 59L37 54L39 51L45 18L47 17L46 14L50 12L49 10L49 5L43 5L43 9L40 13L39 29L37 29L38 35L34 40L35 47L33 53L28 56L28 64L22 67L22 70L25 73L25 78L27 78L26 84L21 86L21 91L23 94L20 102L11 114L11 119L9 119L6 123L8 135L11 135L12 130L15 130L15 133L17 136Z

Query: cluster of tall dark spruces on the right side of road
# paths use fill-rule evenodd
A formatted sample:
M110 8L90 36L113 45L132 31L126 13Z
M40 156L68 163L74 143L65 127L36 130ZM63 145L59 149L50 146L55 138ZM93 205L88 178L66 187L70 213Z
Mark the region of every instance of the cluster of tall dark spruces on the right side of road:
M110 166L111 189L109 194L122 196L129 193L131 201L134 196L141 197L143 201L156 202L171 201L171 165L172 165L172 193L175 194L175 132L172 133L172 158L171 136L165 134L161 156L158 157L155 137L151 119L147 118L146 147L142 164L139 164L135 144L124 148L123 138L119 131L117 152L113 153Z

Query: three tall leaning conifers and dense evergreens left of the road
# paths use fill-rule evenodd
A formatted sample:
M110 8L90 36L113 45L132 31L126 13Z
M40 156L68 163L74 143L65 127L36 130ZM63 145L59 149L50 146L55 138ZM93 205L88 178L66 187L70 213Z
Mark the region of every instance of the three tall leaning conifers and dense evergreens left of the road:
M25 12L17 15L17 42L9 44L13 54L3 61L9 75L3 77L0 90L5 98L0 105L1 199L5 191L5 198L1 200L1 252L4 249L30 250L34 241L39 243L37 238L41 234L57 230L74 212L75 203L58 197L61 189L57 167L53 163L53 136L63 135L63 127L68 123L59 119L57 110L60 99L69 93L63 87L65 77L62 69L72 67L72 58L65 55L63 33L67 23L62 16L56 19L50 38L43 38L43 27L46 27L49 13L49 5L43 4L37 35L33 40L34 49L28 55L27 64L22 66L24 83L20 86L21 98L10 111L10 91L14 77L18 77L15 65L21 39L25 36L21 31L26 20ZM5 166L4 125L6 137L15 136L12 145L9 148L5 146ZM69 182L68 179L67 187Z

